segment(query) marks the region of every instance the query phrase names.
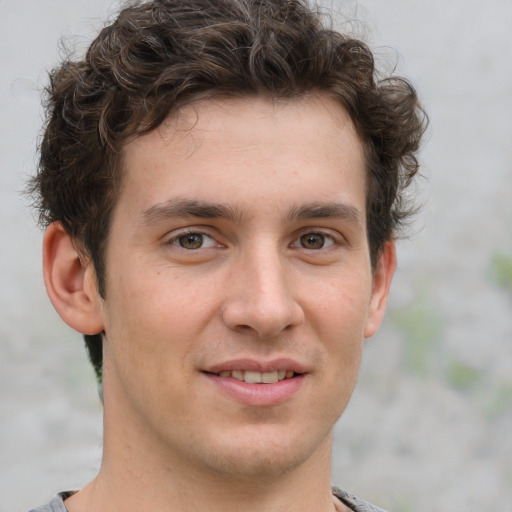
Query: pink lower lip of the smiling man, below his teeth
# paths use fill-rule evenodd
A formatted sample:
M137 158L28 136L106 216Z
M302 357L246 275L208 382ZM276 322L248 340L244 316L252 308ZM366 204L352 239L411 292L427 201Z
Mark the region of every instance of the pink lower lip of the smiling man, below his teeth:
M270 407L286 402L304 384L306 377L302 374L291 379L280 380L274 384L249 384L248 382L220 377L212 373L205 373L204 375L230 398L243 405L253 407Z

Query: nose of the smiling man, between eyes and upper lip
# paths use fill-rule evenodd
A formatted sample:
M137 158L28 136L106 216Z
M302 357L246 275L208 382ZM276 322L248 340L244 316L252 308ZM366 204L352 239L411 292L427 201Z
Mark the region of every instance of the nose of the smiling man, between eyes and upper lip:
M272 338L301 324L304 312L293 293L291 269L278 251L260 248L231 269L222 308L224 324Z

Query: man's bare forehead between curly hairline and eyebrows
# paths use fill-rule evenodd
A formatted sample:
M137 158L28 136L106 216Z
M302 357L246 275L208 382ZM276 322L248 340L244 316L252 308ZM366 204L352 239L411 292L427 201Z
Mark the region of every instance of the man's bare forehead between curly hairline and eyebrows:
M348 194L358 196L352 200L364 214L361 142L345 109L321 94L190 105L128 143L123 169L122 195L130 194L139 211L169 196L244 209Z

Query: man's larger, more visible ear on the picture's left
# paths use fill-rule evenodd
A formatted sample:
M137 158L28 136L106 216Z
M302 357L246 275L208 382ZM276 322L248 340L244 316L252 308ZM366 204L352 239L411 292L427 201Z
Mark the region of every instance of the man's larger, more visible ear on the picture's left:
M60 222L46 229L43 274L48 296L64 322L82 334L103 331L94 265L78 252Z

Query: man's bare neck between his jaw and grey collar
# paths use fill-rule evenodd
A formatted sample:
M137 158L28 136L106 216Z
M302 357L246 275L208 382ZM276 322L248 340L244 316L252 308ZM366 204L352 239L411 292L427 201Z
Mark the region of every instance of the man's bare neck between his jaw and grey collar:
M281 475L226 477L184 466L182 461L112 453L105 445L98 476L66 501L70 512L155 510L244 510L244 512L332 512L331 436L298 467ZM160 460L158 460L160 459Z

